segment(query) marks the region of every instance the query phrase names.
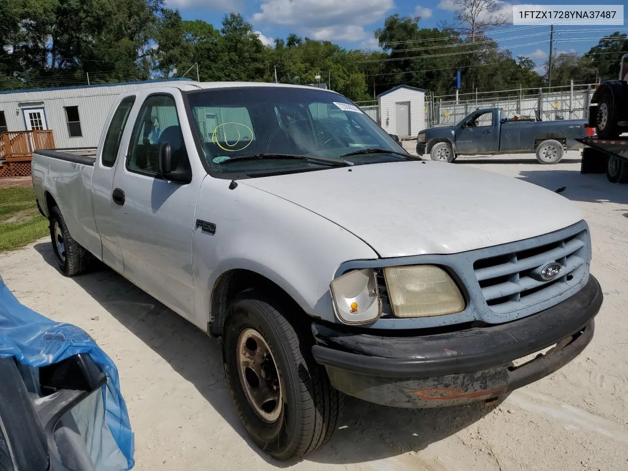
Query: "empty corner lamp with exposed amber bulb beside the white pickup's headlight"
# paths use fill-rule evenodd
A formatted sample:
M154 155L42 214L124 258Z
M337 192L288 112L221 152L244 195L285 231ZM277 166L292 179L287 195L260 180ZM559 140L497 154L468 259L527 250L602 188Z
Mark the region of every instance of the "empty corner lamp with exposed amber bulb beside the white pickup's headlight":
M330 288L336 315L342 322L362 324L382 315L382 301L372 269L350 271L338 276Z

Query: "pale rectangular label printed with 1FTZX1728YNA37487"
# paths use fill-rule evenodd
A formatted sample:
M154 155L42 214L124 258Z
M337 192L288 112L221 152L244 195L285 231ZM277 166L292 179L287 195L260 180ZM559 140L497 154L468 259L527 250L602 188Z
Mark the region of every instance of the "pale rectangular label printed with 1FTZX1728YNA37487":
M512 24L624 24L624 5L513 5Z

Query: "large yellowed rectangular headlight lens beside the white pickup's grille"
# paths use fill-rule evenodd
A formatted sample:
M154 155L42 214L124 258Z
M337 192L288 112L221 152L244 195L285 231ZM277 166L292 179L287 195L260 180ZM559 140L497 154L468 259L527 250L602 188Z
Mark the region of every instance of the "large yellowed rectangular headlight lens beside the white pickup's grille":
M427 317L461 312L465 300L452 277L433 265L384 268L395 317Z

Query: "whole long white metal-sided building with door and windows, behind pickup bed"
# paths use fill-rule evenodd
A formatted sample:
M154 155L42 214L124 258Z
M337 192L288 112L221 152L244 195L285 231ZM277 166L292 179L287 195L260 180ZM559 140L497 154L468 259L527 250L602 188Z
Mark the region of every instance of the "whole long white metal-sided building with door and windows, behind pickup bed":
M119 94L180 80L0 91L0 133L52 129L58 149L96 147Z

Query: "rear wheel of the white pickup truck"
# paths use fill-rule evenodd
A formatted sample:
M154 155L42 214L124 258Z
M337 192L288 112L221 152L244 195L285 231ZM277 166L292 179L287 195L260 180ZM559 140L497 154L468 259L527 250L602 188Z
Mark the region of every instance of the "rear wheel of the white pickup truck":
M94 266L94 256L72 239L58 206L50 210L50 240L59 269L65 276L85 273Z

